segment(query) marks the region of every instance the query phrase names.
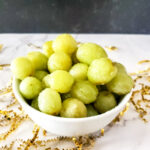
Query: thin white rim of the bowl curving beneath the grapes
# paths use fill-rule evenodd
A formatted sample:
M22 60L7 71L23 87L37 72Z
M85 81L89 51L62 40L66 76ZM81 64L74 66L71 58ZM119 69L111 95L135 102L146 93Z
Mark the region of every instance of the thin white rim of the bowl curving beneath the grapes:
M17 98L17 100L19 101L19 103L21 104L23 109L24 109L23 105L25 105L25 107L28 107L28 109L36 112L37 114L41 114L41 115L44 115L45 117L49 117L53 120L62 121L62 122L85 122L85 121L97 120L102 117L107 117L115 112L118 112L120 110L120 108L124 107L124 105L129 101L131 93L132 93L132 92L130 92L130 93L126 94L124 96L124 98L122 99L122 101L115 108L113 108L105 113L102 113L102 114L99 114L96 116L85 117L85 118L63 118L63 117L53 116L53 115L49 115L49 114L40 112L40 111L36 110L35 108L31 107L26 102L26 100L23 98L21 93L19 92L19 79L16 79L15 77L13 77L12 87L13 87L13 93L14 93L15 97Z

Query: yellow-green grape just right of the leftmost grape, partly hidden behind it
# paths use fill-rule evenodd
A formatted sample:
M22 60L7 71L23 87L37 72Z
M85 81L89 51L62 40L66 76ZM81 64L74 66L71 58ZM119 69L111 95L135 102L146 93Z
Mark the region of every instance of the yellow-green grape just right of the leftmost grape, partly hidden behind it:
M47 70L48 58L41 52L29 52L27 57L32 62L35 70Z

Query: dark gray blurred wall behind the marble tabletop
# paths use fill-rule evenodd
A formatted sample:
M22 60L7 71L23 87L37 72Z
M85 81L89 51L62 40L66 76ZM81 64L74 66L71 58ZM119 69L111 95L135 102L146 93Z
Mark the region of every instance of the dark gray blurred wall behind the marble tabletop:
M150 33L150 0L0 0L0 33Z

